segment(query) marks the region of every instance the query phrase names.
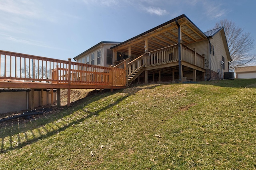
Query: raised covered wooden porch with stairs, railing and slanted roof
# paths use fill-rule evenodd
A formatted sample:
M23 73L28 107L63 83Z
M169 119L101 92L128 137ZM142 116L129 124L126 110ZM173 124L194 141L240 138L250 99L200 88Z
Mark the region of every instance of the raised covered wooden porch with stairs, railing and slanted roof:
M139 76L144 77L146 83L161 81L161 75L179 82L189 75L190 80L197 81L199 77L204 80L204 55L196 53L189 45L206 39L183 14L111 49L116 57L115 67L127 68L128 84ZM121 53L125 54L124 59L118 56Z

